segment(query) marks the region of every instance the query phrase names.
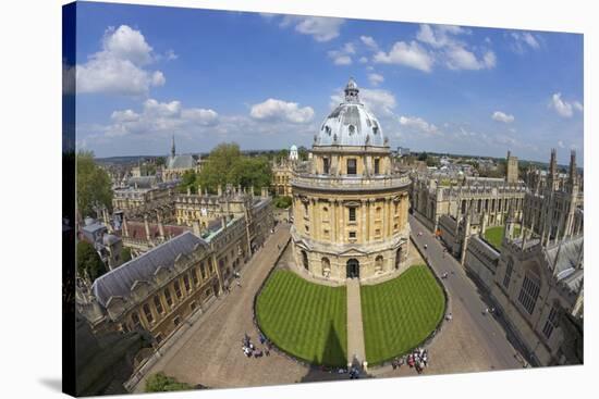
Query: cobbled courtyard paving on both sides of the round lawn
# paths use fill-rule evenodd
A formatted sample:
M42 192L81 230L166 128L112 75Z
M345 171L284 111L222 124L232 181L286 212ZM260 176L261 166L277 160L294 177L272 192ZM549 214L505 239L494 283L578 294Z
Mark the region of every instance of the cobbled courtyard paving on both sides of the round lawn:
M449 254L443 257L440 242L419 222L411 219L411 225L416 246L423 248L427 244L428 249L424 252L436 273L450 273L443 284L453 320L443 322L441 331L428 345L430 364L425 374L522 367L505 332L497 321L484 314L484 298L463 267ZM423 235L417 236L418 232ZM347 379L346 375L310 369L274 351L270 357L247 359L241 350L246 332L254 342L258 342L253 323L254 297L289 238L289 225L280 225L242 271L242 287L233 286L229 295L218 299L158 360L150 373L163 371L179 381L212 388ZM414 260L418 260L418 255L414 254ZM288 248L280 265L290 262L293 260ZM416 374L413 369L403 366L394 371L390 365L371 369L368 373L372 377ZM144 384L142 379L135 390L143 391Z

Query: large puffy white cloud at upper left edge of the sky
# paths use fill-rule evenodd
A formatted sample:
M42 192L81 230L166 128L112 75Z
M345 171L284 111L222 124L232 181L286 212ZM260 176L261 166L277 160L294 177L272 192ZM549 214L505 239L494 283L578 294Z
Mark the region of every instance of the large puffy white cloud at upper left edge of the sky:
M126 25L108 28L102 50L76 65L76 90L78 93L147 95L150 87L166 83L162 72L144 68L152 61L152 48L139 30Z

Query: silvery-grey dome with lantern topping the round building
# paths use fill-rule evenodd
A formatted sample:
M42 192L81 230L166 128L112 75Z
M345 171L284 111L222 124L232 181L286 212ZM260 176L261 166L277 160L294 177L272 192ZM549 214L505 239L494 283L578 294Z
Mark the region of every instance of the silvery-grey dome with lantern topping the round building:
M325 119L314 137L314 145L386 147L380 123L359 102L359 89L353 78L350 78L344 91L345 101Z

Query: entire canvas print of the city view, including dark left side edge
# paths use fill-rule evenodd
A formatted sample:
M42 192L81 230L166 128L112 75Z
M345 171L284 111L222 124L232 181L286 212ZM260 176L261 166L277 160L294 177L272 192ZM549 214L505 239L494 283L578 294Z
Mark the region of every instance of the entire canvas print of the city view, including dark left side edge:
M583 35L100 2L63 29L68 394L584 363Z

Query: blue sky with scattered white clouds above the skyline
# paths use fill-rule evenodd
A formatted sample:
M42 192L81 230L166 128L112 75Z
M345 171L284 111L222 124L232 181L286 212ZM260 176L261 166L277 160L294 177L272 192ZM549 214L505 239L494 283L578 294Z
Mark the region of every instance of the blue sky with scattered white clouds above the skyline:
M97 157L310 147L353 76L392 147L583 163L582 35L80 2L65 73Z

